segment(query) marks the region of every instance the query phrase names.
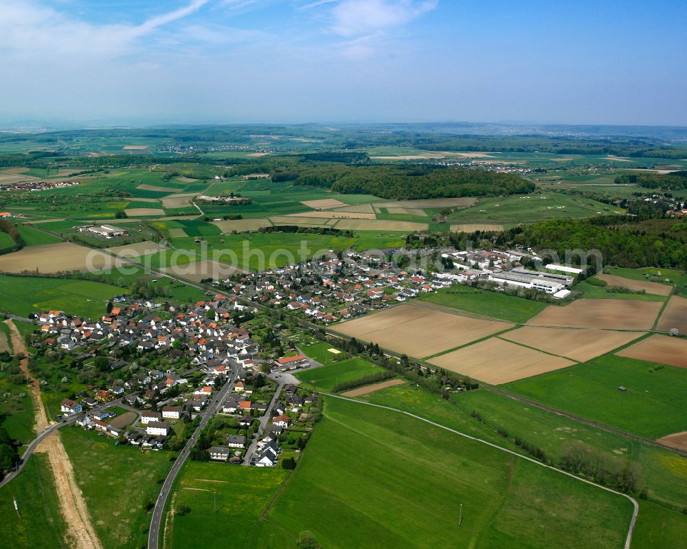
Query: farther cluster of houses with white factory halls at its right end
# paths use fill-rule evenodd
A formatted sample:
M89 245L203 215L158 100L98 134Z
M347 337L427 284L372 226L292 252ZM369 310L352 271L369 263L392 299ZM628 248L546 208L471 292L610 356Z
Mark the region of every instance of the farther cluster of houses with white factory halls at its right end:
M554 298L565 298L570 295L567 287L582 272L582 269L553 264L547 265L545 271L523 269L523 258L539 260L523 251L429 250L430 253L436 251L442 252L443 265L452 269L427 276L426 269L424 272L403 269L365 253L348 252L345 263L335 258L249 273L228 289L243 298L281 306L309 320L331 324L383 309L394 302L412 300L422 293L479 280L491 280L499 287L527 288Z

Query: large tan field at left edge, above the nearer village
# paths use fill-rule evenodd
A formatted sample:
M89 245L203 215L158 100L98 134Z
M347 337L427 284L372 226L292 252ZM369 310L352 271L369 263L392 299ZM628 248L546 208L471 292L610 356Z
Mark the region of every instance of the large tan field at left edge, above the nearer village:
M32 246L0 256L0 272L21 273L36 271L56 273L58 271L86 271L113 269L124 265L102 251L78 246L69 242Z

